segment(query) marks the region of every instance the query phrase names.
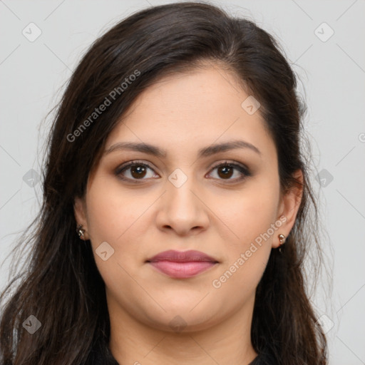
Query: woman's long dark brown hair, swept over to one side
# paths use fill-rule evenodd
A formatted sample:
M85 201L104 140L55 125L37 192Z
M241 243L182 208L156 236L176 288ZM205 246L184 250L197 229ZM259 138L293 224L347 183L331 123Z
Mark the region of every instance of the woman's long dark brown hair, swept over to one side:
M303 274L308 250L320 250L296 76L266 31L216 6L193 2L154 6L120 21L93 43L73 72L48 138L43 205L19 243L19 250L31 247L27 265L1 295L4 302L9 297L1 314L1 364L87 364L91 349L106 349L105 284L90 241L76 235L73 201L85 194L106 138L135 98L161 76L203 63L232 71L261 104L277 148L282 191L299 184L296 170L304 175L292 232L282 255L272 250L257 287L252 344L277 364L327 364L327 342L316 325ZM93 115L106 98L110 105ZM30 315L41 322L35 334L23 326Z

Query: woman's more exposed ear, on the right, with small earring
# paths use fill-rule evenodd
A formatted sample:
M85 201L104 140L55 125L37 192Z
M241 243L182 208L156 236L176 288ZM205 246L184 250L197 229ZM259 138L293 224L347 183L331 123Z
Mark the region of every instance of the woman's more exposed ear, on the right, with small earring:
M300 203L302 202L303 195L303 173L302 170L297 170L293 177L297 180L299 185L294 185L287 192L284 193L279 202L279 217L283 224L277 230L277 235L282 234L287 237L294 226L295 220L297 218L297 212L299 210ZM281 217L281 218L280 218ZM272 247L277 248L280 245L279 237L274 237L272 242Z

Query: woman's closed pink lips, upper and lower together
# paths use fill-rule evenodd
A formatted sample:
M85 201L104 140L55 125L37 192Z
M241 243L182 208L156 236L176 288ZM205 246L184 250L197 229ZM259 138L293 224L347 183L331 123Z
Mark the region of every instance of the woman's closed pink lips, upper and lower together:
M160 252L147 260L155 269L177 279L194 277L217 264L213 257L195 250Z

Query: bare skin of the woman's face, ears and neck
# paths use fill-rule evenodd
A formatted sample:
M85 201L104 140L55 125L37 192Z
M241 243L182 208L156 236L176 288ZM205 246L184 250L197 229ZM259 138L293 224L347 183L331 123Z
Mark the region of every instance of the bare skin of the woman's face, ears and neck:
M255 289L272 248L279 247L277 236L292 230L301 192L282 194L274 141L259 110L249 115L241 107L247 96L218 66L158 81L110 133L106 150L118 142L144 142L167 156L106 153L89 176L85 197L75 200L76 221L106 283L110 349L120 364L242 365L257 356L250 340ZM260 154L238 148L197 157L200 148L230 140L245 140ZM150 166L139 180L131 168L120 173L135 184L115 175L132 160ZM237 169L223 175L215 166L226 160L252 175ZM176 168L187 177L180 187L168 180ZM213 287L280 217L281 227L220 288ZM101 242L114 250L106 261L95 252ZM199 250L219 263L173 279L145 262L165 250ZM176 316L182 331L172 326Z

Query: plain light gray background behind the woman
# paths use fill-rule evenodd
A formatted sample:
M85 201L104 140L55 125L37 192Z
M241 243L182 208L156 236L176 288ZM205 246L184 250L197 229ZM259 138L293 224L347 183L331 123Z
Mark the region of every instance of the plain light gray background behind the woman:
M51 120L46 114L59 101L63 84L88 46L110 26L145 6L168 2L0 1L1 288L10 278L10 260L4 259L41 201L37 176ZM324 316L330 364L365 364L365 2L213 4L254 19L273 34L302 81L306 130L319 173L312 180L327 232L322 241L331 278L322 277L312 302ZM36 36L37 28L31 22L41 30L34 41L29 37Z

